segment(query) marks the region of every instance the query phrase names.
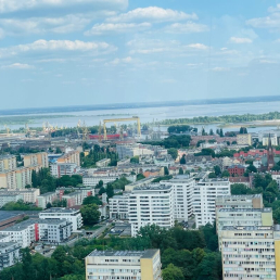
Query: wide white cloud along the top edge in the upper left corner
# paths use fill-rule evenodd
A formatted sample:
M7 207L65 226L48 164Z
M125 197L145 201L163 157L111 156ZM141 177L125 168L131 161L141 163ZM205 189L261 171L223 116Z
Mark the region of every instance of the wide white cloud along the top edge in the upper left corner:
M38 9L64 10L65 8L79 8L81 5L99 9L110 7L124 9L127 4L128 0L0 0L0 13Z

